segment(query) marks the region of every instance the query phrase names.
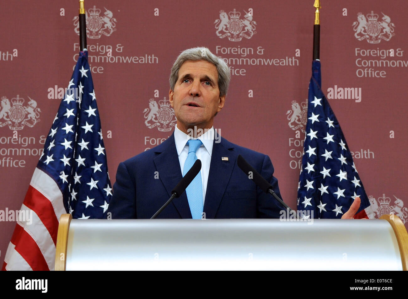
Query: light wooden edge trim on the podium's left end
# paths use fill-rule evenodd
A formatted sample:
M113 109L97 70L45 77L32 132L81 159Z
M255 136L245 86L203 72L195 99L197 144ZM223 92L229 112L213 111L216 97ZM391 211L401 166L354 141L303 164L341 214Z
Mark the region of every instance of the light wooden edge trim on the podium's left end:
M62 214L60 218L60 224L58 225L57 246L55 248L55 271L65 271L68 231L71 219L71 214Z

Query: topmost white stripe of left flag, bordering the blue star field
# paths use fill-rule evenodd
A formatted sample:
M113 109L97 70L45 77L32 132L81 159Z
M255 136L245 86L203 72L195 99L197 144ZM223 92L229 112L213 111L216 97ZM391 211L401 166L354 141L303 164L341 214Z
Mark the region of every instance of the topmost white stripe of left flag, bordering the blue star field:
M61 214L67 213L62 202L62 193L58 184L39 168L35 168L30 185L47 197L54 208L55 215L60 221Z

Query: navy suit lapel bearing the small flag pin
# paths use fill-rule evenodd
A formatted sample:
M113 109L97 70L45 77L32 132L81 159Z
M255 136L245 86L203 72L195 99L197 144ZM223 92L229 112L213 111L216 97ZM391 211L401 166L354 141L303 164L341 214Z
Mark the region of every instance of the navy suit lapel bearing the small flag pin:
M214 142L204 200L204 212L208 219L215 217L226 186L231 178L235 160L237 159L233 151L230 151L232 148L231 143L224 139L221 139L220 143ZM222 160L222 157L228 157L228 161Z

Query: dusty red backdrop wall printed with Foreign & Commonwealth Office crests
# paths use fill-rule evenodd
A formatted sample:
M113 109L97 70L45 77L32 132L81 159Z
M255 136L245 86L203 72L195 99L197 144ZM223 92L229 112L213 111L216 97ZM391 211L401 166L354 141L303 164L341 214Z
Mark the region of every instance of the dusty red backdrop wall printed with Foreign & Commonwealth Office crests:
M361 88L360 102L329 99L330 105L354 153L376 216L392 212L408 225L404 125L408 2L395 0L392 6L379 0L322 2L322 88ZM169 73L180 51L206 46L226 58L234 72L214 127L231 142L268 154L283 199L296 208L304 133L303 123L290 118L304 113L302 102L307 98L312 5L312 0L209 0L204 4L87 0L89 63L112 184L119 162L171 134L165 122L149 120L146 125L145 109L151 98L159 107L159 101L168 99ZM217 32L216 27L228 20L245 20L246 13L252 14L246 27ZM4 5L0 16L1 108L7 110L8 100L11 109L13 98L19 96L23 106L33 99L40 109L35 121L27 121L31 126L20 123L18 129L0 118L0 210L16 210L60 103L50 98L49 90L67 87L71 78L79 51L78 4L20 0ZM361 32L362 24L368 38ZM253 97L248 97L251 91ZM293 101L300 111L292 109ZM17 142L11 140L15 131ZM0 263L14 226L0 222Z

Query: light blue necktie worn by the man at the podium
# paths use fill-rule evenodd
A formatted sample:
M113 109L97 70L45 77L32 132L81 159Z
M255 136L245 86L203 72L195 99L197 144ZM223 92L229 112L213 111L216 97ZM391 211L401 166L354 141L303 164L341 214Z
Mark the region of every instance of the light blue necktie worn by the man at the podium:
M188 140L188 155L184 162L183 177L197 160L195 152L202 145L201 140ZM191 216L193 219L201 219L203 213L203 184L201 182L201 171L195 176L190 185L186 188L188 205L190 206Z

